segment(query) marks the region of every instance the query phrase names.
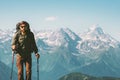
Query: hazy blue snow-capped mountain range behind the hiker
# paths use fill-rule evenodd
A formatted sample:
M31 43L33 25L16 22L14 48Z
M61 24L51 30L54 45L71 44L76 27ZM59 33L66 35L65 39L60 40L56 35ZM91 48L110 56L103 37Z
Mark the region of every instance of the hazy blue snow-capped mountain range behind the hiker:
M0 34L0 61L10 66L13 32L7 32L9 33ZM41 54L41 80L56 80L75 71L93 76L120 76L120 42L105 33L101 27L93 26L82 34L76 34L69 28L34 33ZM36 70L34 56L32 69ZM33 71L34 77L36 74Z

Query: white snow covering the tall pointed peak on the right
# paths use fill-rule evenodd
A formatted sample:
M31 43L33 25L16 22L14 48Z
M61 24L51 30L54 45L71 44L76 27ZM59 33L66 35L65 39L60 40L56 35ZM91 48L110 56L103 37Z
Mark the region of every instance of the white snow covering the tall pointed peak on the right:
M79 42L77 48L80 52L89 53L93 50L106 50L110 46L118 47L118 41L105 33L101 27L93 26L87 32L79 35L82 40Z

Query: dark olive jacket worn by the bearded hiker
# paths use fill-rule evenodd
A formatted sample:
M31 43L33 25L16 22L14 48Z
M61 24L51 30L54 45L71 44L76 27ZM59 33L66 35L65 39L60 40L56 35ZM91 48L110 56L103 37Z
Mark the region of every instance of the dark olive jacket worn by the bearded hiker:
M20 31L16 32L13 39L12 45L16 45L17 53L37 53L38 48L35 43L34 34L32 32L22 35Z

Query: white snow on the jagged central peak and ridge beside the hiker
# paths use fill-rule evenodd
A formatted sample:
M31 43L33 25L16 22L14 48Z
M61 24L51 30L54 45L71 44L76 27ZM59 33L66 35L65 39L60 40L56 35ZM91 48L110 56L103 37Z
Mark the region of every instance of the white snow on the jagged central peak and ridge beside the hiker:
M36 38L42 39L51 46L61 46L62 44L66 44L69 38L71 40L79 39L79 37L68 28L61 28L56 31L41 31L36 34Z

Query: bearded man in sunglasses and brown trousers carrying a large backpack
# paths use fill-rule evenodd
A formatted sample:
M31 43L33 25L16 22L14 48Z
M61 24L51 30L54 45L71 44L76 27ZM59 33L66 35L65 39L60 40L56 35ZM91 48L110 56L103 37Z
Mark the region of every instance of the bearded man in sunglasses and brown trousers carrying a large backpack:
M16 65L18 68L18 80L24 80L23 66L26 67L26 79L31 80L32 58L34 52L39 59L38 48L35 43L34 34L30 31L28 22L21 21L16 25L17 32L12 39L12 50L16 52Z

